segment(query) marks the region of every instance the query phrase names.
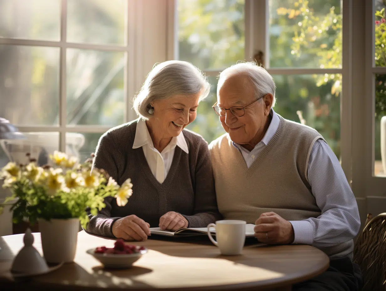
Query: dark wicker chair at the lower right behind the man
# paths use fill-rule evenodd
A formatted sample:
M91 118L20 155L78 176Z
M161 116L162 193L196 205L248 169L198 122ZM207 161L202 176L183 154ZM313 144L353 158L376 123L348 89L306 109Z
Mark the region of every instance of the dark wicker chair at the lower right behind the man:
M361 267L362 291L386 291L386 213L367 220L354 247L354 262Z

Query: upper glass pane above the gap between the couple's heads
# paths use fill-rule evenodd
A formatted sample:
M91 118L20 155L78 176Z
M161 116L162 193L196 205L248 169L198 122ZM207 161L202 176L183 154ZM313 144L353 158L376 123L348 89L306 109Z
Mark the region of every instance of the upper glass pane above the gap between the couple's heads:
M178 0L179 60L201 70L244 60L244 0Z

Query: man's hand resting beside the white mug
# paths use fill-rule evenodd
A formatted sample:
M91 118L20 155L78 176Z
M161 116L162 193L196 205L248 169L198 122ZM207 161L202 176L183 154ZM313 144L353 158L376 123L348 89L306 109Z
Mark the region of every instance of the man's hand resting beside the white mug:
M259 242L288 244L295 239L291 223L274 212L261 214L255 224L255 237Z

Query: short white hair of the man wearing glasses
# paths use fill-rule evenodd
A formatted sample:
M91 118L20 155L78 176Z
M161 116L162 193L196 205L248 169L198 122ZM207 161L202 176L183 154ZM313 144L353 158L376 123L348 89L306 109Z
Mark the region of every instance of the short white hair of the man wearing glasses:
M246 75L249 77L249 80L252 82L252 86L254 87L255 97L259 99L260 97L266 94L273 95L273 104L272 107L275 106L276 98L275 98L275 82L271 75L261 66L257 66L254 62L247 63L238 63L236 65L230 66L226 68L220 73L220 81L223 81L224 78L229 77L231 75ZM217 87L217 95L220 86Z

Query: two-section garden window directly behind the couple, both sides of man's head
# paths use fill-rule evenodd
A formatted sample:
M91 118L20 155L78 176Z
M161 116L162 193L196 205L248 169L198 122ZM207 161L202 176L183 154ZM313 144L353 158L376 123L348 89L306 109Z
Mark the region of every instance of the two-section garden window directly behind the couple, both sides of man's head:
M261 51L265 52L264 65L277 87L274 110L287 119L316 128L340 157L340 0L309 3L177 1L178 51L175 56L201 68L210 76L212 85L210 96L198 107L197 118L190 129L203 135L208 142L224 133L211 108L217 100L216 76L237 61L253 60L244 53L245 43L254 41L245 39L245 26L249 26L250 31L251 27L257 27L255 36L260 41ZM256 11L254 16L257 21L264 19L263 25L247 19L244 13L247 10Z

